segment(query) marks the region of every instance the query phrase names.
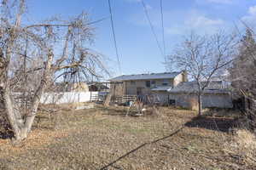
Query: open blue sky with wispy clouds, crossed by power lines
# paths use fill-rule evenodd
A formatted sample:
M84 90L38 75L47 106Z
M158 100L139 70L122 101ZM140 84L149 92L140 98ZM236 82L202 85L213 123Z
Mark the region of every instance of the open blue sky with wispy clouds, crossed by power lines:
M162 0L165 18L166 54L190 31L212 34L214 31L234 29L239 20L256 23L256 0ZM144 0L154 30L162 46L160 0ZM122 74L166 71L148 25L140 0L112 0L113 21L118 42ZM90 20L99 20L95 29L95 43L90 47L108 57L113 75L118 75L111 31L108 0L28 0L31 20L44 20L53 15L72 17L82 11Z

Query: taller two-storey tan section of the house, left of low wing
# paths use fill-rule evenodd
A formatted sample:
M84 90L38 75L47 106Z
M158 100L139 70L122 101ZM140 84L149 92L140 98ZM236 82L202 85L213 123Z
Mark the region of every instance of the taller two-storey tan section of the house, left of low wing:
M113 96L151 94L153 88L174 88L187 82L185 71L123 75L109 80Z

